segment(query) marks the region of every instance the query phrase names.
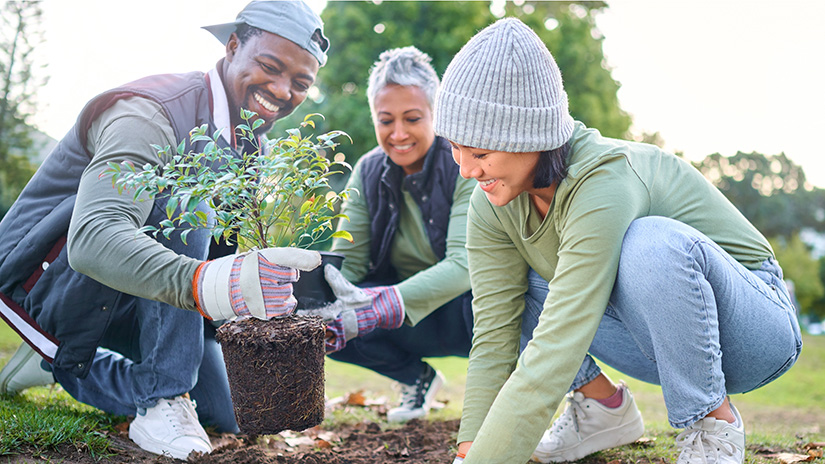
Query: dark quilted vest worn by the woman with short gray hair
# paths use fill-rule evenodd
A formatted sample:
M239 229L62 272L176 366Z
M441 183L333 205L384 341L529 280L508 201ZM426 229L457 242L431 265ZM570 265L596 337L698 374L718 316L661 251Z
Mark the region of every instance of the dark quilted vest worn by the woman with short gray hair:
M397 278L390 263L390 247L398 230L404 200L402 185L410 192L418 207L430 239L430 246L439 259L447 253L447 227L450 208L458 178L458 165L453 160L450 143L436 137L424 158L420 172L404 175L381 147L375 147L360 160L361 185L372 225L370 227L370 265L365 281L387 282Z

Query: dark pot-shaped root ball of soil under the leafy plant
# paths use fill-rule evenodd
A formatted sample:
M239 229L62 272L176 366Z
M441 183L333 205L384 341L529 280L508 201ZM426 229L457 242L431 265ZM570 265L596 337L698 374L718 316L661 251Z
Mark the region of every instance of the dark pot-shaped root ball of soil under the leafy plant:
M241 432L300 431L324 420L325 330L320 317L297 315L218 329Z

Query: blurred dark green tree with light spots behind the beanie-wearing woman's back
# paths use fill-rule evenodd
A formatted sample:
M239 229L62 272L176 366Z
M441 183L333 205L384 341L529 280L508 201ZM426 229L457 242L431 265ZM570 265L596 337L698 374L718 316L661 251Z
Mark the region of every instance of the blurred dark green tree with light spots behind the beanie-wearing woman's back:
M825 232L825 190L807 182L784 153L715 153L694 166L766 236L790 240L804 228Z

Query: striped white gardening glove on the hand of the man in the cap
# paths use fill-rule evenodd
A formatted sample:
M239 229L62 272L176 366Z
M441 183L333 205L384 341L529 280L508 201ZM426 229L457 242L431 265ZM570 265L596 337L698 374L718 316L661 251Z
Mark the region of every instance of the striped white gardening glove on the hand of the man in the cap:
M300 271L320 264L317 251L298 248L264 248L205 261L192 280L195 304L210 320L289 316L297 304L292 282Z

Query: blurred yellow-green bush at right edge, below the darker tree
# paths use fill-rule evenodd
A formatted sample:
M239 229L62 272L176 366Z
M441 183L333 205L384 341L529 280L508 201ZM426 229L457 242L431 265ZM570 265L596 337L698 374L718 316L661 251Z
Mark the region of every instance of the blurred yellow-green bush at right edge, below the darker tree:
M789 240L770 240L776 259L782 265L785 279L794 283L796 299L801 313L813 312L814 303L825 296L825 287L820 280L820 264L811 256L811 251L798 235Z

